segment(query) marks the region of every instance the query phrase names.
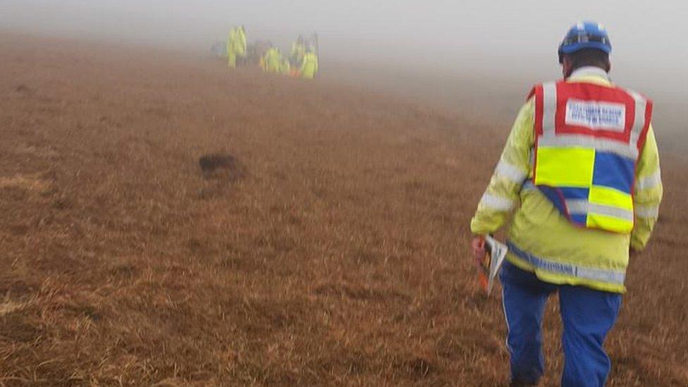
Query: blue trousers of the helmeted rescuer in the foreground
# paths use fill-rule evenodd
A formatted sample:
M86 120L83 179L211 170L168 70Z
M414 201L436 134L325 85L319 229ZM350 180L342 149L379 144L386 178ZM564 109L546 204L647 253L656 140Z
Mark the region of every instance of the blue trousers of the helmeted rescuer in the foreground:
M504 262L500 280L512 382L534 384L542 376L542 317L548 296L558 291L565 357L561 385L604 386L611 362L603 343L618 315L621 295L546 283L510 262Z

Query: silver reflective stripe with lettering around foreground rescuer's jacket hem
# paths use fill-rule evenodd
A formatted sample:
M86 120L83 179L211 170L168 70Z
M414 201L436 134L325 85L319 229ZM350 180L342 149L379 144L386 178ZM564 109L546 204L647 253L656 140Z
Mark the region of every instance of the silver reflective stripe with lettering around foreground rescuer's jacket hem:
M576 278L584 278L592 281L601 281L606 283L615 283L623 285L626 278L626 273L623 270L605 270L594 269L591 267L575 266L564 262L556 262L553 259L536 257L529 252L524 252L516 247L512 242L508 241L509 252L516 257L528 262L538 269L551 271L553 273L564 274Z

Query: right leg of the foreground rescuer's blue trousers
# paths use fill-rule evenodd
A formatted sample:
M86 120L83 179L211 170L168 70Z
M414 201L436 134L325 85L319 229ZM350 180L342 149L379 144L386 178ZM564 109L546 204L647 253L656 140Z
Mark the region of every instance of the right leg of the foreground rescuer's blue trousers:
M582 286L560 286L559 303L564 325L563 387L601 387L611 362L603 344L614 325L621 295Z

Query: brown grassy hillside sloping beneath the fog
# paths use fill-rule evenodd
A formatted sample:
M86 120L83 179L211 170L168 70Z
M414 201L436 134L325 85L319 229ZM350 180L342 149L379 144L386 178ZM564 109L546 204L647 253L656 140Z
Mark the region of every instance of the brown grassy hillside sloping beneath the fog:
M146 49L0 35L0 63L0 386L507 383L467 241L508 127ZM688 385L687 167L610 386Z

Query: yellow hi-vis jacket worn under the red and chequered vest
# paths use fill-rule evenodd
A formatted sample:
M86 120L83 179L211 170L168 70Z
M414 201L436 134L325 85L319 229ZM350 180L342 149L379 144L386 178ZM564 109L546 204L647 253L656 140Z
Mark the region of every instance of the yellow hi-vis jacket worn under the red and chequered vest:
M598 68L581 68L568 82L611 85ZM634 228L611 233L574 226L539 190L532 178L531 154L535 143L534 102L522 106L489 186L471 221L476 235L494 233L515 209L507 259L532 271L548 283L584 285L614 293L625 292L629 247L642 250L658 218L663 187L657 143L650 126L636 164ZM518 205L520 204L520 205Z

